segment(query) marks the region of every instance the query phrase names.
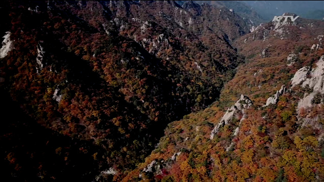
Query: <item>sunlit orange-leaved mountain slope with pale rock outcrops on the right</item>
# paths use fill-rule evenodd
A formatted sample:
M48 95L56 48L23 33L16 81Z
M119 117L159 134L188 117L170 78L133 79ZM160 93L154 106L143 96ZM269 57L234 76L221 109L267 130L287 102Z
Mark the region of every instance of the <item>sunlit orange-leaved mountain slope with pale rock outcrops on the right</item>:
M220 100L170 123L124 181L323 179L324 22L295 23L261 24L236 39L246 63Z

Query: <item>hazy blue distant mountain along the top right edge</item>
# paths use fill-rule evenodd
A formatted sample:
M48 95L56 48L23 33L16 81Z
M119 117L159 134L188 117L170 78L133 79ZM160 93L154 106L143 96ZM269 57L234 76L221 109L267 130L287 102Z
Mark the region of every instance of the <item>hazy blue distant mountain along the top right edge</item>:
M183 4L187 1L177 2ZM288 12L309 19L324 18L324 1L196 1L196 3L233 9L240 17L251 20L255 26Z

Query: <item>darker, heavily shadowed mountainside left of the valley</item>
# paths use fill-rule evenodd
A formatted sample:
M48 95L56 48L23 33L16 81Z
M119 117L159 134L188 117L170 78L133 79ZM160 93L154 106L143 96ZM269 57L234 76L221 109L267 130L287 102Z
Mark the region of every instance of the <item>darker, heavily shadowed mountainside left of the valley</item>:
M124 177L167 124L219 98L244 61L231 44L250 32L225 7L194 2L5 1L1 10L10 180Z

